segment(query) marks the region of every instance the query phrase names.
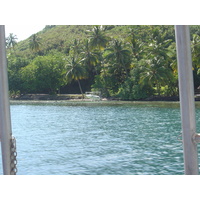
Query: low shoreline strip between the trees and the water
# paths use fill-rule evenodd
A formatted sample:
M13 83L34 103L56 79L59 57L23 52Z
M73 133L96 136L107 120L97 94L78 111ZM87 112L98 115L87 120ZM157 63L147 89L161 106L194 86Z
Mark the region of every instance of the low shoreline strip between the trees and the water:
M26 94L15 98L10 98L11 105L60 105L60 106L111 106L111 105L151 105L151 106L179 106L179 100L175 98L148 98L145 100L120 100L114 98L102 98L100 100L94 100L85 98L82 99L81 94L60 94L60 95L48 95L48 94Z

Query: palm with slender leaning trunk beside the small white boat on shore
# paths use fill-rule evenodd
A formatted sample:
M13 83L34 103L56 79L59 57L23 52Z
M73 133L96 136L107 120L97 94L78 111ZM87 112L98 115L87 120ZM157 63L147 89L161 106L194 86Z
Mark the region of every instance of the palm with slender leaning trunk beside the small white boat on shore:
M80 60L80 58L77 58L75 56L69 56L66 60L67 60L67 64L66 64L67 81L68 82L71 82L73 80L77 81L80 92L82 94L82 98L84 98L80 80L86 79L88 74L87 74L86 69L82 65L82 60Z

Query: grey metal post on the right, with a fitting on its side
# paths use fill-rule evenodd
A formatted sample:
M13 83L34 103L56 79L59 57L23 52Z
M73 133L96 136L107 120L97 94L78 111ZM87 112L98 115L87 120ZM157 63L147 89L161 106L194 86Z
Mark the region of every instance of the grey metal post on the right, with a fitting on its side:
M176 25L176 48L179 74L179 95L182 120L182 137L185 174L197 175L198 152L194 141L196 117L189 26Z

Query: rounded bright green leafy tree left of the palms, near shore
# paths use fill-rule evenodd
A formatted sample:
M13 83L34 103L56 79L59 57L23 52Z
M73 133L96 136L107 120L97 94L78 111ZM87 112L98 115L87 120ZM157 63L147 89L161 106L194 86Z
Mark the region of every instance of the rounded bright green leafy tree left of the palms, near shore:
M21 68L21 92L56 94L66 84L63 58L60 53L38 56Z

